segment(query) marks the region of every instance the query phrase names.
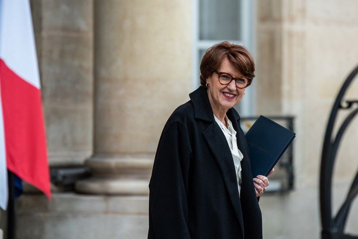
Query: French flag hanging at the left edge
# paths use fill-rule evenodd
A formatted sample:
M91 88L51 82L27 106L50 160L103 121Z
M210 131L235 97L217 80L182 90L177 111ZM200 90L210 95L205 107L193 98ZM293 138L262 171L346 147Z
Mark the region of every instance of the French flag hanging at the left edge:
M28 0L0 0L0 207L7 172L51 198L40 77Z

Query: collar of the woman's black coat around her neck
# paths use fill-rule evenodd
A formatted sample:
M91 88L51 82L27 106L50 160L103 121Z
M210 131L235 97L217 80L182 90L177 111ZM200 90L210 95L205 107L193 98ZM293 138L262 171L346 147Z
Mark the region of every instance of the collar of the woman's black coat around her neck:
M194 106L196 119L203 119L210 122L215 121L206 89L203 86L200 86L190 93L189 97ZM233 108L229 109L226 115L231 121L240 119L239 114Z

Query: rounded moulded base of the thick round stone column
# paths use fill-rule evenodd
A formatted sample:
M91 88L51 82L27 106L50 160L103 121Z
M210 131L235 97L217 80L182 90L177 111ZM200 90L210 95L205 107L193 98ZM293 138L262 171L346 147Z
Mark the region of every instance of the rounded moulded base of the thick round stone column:
M92 177L76 182L76 191L100 195L148 195L154 155L94 155L85 165Z

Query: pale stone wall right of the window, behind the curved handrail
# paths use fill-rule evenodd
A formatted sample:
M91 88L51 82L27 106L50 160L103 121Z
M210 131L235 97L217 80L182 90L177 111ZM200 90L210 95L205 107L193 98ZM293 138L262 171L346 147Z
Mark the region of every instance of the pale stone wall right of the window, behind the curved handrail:
M327 120L345 78L358 64L354 0L259 0L258 114L295 119L295 190L260 201L267 238L318 238L318 181ZM358 98L358 79L348 98ZM339 116L340 122L346 113ZM334 212L357 171L358 119L344 137L334 175ZM347 231L358 234L353 205Z

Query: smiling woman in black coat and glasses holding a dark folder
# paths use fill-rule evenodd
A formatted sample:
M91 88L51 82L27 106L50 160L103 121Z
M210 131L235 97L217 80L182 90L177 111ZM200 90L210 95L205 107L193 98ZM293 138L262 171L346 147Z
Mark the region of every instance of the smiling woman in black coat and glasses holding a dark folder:
M209 48L201 86L164 126L149 184L149 239L261 239L258 203L269 185L252 178L240 116L233 108L255 74L240 45Z

